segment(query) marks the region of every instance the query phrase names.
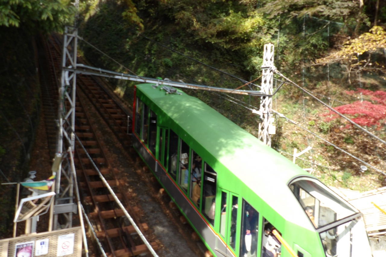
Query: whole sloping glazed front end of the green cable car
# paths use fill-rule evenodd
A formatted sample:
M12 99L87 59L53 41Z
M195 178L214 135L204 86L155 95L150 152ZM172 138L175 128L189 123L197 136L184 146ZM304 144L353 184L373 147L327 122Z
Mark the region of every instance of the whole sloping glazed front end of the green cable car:
M322 240L327 257L371 257L360 213L317 179L289 185Z

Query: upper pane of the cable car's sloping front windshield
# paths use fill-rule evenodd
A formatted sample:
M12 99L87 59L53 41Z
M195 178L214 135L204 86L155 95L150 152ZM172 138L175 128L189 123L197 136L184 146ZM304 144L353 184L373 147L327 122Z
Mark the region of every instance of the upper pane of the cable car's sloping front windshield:
M317 179L299 178L291 183L289 188L315 228L357 212Z

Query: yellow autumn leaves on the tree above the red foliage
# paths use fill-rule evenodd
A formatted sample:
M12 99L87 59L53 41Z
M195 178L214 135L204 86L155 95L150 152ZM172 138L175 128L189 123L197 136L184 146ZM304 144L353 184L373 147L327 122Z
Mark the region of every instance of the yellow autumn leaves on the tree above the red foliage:
M316 64L341 63L345 66L351 84L350 74L362 70L385 71L384 65L371 61L371 54L386 48L386 32L382 27L374 26L356 39L345 42L340 50L317 59ZM358 57L361 56L361 60Z

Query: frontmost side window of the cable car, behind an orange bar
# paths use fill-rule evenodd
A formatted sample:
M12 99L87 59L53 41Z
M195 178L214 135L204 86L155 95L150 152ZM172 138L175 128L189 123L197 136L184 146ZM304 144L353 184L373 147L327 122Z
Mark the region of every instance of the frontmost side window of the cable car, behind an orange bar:
M261 256L262 257L279 257L281 255L281 243L272 233L276 230L269 221L263 218L263 227L261 237ZM277 231L277 230L276 230Z

